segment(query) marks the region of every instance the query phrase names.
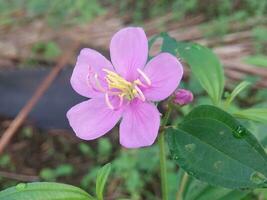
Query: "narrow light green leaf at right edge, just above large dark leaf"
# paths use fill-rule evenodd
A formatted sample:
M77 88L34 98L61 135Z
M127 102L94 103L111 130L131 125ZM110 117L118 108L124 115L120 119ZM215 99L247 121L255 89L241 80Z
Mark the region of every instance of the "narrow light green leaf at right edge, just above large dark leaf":
M236 111L234 115L241 119L248 119L267 124L267 108L249 108L239 110Z

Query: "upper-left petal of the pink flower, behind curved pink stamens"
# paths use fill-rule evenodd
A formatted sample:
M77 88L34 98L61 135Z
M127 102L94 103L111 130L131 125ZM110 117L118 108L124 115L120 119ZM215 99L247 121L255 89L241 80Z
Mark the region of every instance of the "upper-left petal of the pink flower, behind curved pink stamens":
M104 76L103 68L114 71L111 63L103 55L93 49L82 49L70 80L73 89L85 97L99 96L101 93L88 83L88 75L89 72L97 73L101 78Z

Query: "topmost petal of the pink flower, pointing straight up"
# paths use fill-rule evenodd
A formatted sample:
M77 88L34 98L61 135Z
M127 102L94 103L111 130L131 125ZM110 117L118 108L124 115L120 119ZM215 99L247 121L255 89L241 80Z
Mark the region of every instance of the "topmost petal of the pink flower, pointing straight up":
M110 57L116 71L133 81L137 68L142 69L148 57L148 41L142 28L124 28L117 32L110 43Z

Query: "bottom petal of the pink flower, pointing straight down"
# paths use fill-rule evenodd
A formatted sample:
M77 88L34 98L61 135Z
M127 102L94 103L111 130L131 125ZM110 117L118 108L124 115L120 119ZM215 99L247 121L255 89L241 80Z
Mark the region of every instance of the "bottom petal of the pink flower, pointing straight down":
M125 109L120 124L120 143L126 148L139 148L154 143L160 125L155 105L136 101Z

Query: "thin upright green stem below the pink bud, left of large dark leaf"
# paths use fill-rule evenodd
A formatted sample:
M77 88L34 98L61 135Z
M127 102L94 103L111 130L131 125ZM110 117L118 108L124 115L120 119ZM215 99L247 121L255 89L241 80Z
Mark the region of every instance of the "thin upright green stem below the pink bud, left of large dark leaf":
M162 125L161 125L161 128L163 129L163 131L159 134L159 139L158 139L162 200L168 200L168 182L167 182L164 127L168 123L168 119L170 117L170 114L171 114L171 108L170 108L170 105L168 105L168 110L167 110L167 112L163 118Z

